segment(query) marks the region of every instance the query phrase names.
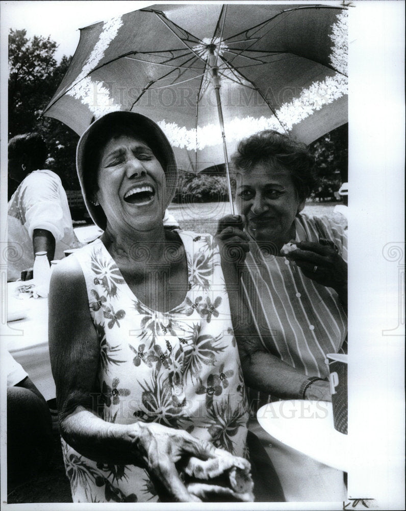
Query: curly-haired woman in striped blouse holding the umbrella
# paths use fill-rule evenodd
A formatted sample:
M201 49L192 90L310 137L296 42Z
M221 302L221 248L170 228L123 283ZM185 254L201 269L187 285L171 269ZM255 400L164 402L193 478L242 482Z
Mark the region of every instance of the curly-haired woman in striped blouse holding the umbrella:
M237 296L231 303L249 311L250 322L241 309L235 317L244 376L258 391L254 405L269 394L330 401L326 354L346 350L346 231L332 218L301 213L315 183L307 146L262 131L240 142L233 163L241 216L221 219L217 239L247 252L235 275L244 305Z

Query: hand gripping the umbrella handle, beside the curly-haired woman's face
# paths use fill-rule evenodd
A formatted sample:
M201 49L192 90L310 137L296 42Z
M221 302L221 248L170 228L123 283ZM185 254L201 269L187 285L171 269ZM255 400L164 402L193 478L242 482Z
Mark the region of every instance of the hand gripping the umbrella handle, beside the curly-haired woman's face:
M220 218L215 240L220 247L222 259L229 263L243 263L249 252L248 236L243 231L244 221L240 215Z

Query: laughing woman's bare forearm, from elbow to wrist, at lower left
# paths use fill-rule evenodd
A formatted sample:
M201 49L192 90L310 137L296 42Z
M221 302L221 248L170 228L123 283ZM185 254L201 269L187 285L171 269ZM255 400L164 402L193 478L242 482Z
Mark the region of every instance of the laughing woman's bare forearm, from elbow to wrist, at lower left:
M141 423L109 423L78 406L60 421L60 431L73 449L89 459L145 467L145 458L139 448L140 440L145 436Z

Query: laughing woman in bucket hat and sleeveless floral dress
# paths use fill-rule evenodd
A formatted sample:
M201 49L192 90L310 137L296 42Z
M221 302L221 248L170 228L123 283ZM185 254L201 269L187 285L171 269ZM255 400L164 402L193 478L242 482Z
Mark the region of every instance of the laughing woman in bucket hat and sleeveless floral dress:
M49 295L73 501L199 501L206 490L249 500L247 404L219 254L209 236L164 229L177 180L165 135L142 115L109 113L81 137L77 167L104 234L58 265ZM244 487L181 477L233 467Z

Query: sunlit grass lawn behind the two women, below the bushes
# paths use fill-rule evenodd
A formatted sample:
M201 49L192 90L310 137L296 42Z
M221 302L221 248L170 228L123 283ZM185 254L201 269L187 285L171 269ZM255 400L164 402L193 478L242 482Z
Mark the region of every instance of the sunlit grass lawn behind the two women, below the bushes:
M333 216L337 202L308 201L303 213L309 216ZM170 204L168 211L179 222L184 230L214 235L217 222L224 215L231 214L229 202L205 202L194 204Z

